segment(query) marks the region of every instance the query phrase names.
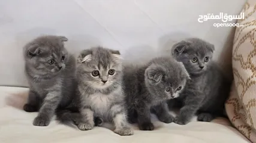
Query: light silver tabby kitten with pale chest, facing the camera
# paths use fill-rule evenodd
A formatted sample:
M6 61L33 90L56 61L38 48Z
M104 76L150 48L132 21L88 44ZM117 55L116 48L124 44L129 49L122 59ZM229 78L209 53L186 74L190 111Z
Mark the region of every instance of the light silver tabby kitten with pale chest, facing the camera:
M95 126L94 117L115 125L115 133L132 135L128 126L122 89L122 61L119 51L96 47L82 51L77 59L77 80L82 120L80 130Z

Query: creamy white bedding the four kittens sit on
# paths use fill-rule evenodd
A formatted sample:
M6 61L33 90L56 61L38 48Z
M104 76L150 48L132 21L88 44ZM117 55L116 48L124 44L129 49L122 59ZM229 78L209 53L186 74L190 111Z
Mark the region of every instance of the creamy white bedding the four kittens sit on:
M0 142L249 142L227 120L215 123L191 122L188 125L164 124L153 118L156 129L141 131L134 126L134 135L119 136L112 130L95 127L81 131L53 120L47 127L33 126L37 113L22 110L28 88L0 86Z

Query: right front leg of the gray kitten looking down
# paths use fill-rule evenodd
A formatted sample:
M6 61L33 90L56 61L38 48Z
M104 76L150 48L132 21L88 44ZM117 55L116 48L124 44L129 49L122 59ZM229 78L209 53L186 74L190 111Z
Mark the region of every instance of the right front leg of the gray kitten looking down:
M174 120L174 117L168 113L168 105L166 102L161 102L159 105L155 105L152 108L152 112L156 114L161 122L171 123Z

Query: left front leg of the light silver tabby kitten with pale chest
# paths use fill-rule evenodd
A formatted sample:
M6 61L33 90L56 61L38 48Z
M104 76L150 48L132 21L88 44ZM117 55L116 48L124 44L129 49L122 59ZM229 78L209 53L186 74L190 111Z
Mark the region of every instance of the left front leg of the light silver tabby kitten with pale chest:
M77 128L80 130L91 130L94 128L94 112L90 107L85 106L80 110L82 114L82 120L76 122Z

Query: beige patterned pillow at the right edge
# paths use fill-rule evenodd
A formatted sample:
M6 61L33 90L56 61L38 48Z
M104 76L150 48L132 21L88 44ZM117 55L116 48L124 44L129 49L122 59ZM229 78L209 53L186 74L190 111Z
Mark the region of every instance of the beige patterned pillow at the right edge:
M233 44L234 82L225 107L231 123L256 142L256 0L246 2Z

